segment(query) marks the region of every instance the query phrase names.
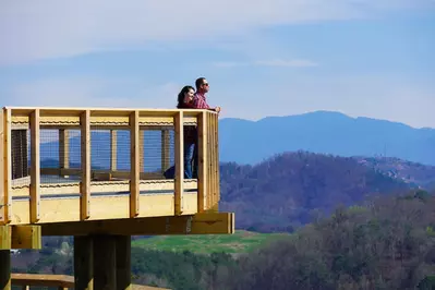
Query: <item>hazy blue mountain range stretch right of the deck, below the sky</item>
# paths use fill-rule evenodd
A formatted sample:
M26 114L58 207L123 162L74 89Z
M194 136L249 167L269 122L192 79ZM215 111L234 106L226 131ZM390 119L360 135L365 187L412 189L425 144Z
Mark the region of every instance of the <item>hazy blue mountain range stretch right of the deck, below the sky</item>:
M306 150L349 156L387 156L435 165L435 129L351 118L339 112L268 117L219 122L221 161L257 164L283 152Z

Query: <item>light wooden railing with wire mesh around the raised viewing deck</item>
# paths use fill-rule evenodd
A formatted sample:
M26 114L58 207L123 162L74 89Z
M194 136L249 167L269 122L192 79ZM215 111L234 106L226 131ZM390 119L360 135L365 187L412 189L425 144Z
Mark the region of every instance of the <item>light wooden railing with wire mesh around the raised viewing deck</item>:
M0 124L0 225L218 209L216 112L3 108ZM194 180L183 174L183 125L198 130ZM171 165L176 173L168 179ZM173 195L155 197L164 191Z

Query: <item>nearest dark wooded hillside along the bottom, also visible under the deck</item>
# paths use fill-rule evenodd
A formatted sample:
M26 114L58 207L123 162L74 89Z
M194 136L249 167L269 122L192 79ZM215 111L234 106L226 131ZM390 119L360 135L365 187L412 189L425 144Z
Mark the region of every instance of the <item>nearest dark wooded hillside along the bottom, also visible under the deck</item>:
M47 241L28 265L13 257L14 271L71 275L71 240ZM183 290L433 289L434 268L435 198L415 191L338 208L238 256L132 249L135 282Z

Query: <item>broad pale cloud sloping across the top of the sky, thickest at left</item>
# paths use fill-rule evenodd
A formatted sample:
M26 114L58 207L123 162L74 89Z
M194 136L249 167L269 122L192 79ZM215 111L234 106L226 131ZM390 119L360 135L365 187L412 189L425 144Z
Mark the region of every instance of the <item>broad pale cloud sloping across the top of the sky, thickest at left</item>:
M433 7L431 0L3 1L0 64L167 41L219 43L273 25L377 16L391 9L427 9L428 3Z

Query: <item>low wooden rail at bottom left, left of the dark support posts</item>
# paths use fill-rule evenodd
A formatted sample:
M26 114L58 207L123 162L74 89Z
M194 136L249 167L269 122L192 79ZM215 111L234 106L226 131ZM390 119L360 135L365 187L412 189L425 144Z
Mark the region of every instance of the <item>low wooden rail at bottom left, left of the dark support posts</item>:
M74 288L74 278L67 275L12 274L12 285ZM80 288L78 288L80 289Z

